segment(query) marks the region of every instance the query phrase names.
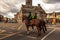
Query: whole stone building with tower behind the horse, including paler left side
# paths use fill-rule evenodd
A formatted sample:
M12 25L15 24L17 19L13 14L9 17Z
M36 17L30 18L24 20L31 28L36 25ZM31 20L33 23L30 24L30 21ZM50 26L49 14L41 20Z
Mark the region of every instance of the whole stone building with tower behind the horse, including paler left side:
M20 12L15 15L15 19L19 22L20 20L22 20L22 15L28 16L29 12L31 12L32 14L38 13L38 16L43 15L44 17L46 14L40 4L38 4L38 6L32 6L32 0L26 0L26 5L22 5Z

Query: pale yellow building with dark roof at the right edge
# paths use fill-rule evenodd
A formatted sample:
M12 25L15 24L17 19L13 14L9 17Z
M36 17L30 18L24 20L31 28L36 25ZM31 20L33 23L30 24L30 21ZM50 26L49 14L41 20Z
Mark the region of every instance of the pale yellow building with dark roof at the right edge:
M55 19L56 23L60 23L60 12L47 13L47 19Z

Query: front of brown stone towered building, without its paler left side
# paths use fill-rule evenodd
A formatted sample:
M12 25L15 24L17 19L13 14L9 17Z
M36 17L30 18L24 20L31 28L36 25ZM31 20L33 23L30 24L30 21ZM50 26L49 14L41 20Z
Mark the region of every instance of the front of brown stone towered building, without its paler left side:
M32 14L38 13L39 16L45 16L46 14L40 4L38 4L38 6L32 6L32 0L26 0L26 5L22 5L21 10L22 14L25 15L28 15L29 12L31 12Z

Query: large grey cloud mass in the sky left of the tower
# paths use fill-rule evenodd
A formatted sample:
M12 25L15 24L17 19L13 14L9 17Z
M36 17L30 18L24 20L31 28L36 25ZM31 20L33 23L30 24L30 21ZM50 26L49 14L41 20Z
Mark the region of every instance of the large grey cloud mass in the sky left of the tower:
M9 12L11 13L17 13L19 11L19 8L17 8L16 5L22 4L24 0L0 0L0 15L8 15ZM9 16L9 15L8 15ZM11 17L11 16L9 16Z

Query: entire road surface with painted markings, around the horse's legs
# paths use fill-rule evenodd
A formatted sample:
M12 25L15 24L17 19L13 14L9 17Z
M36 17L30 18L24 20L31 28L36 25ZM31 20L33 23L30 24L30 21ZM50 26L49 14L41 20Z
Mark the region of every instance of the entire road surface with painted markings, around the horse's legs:
M18 26L17 26L18 25ZM48 25L47 32L43 32L37 37L37 29L34 32L30 27L30 34L27 35L26 27L17 23L0 23L0 40L59 40L60 28L59 24Z

